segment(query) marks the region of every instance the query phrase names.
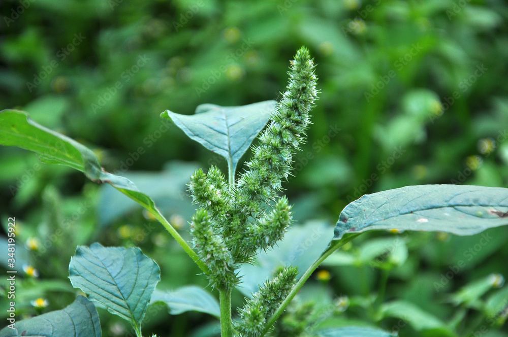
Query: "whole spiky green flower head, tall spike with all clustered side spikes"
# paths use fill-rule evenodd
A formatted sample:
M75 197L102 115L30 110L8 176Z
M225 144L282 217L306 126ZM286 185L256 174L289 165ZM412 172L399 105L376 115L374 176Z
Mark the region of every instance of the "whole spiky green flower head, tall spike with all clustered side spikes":
M288 199L277 199L277 193L290 174L317 99L314 64L306 48L291 61L289 76L287 90L238 183L228 182L212 166L207 174L196 171L188 185L199 206L191 225L193 244L208 266L213 287L231 289L239 281L237 265L251 261L260 249L273 247L292 222Z

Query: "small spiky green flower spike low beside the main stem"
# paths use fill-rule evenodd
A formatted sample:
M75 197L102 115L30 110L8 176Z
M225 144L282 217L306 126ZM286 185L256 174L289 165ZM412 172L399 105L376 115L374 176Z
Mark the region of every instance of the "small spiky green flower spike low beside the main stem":
M257 337L266 327L267 321L291 291L298 275L297 267L284 268L270 281L263 283L259 291L248 299L240 312L236 330L242 337Z

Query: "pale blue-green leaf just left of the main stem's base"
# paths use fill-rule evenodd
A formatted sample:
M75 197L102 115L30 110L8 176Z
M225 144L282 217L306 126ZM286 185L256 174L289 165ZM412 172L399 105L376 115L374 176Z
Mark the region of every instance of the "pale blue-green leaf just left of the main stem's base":
M198 311L220 317L217 299L208 291L198 286L186 286L174 291L155 289L151 303L164 302L171 315L179 315L186 311Z

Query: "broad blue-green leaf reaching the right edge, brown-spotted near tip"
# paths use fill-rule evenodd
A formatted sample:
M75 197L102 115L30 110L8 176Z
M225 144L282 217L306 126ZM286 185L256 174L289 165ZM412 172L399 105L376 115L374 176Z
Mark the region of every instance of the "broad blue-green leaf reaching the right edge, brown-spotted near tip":
M347 205L335 237L372 229L472 235L508 224L508 189L468 185L406 186L367 194Z

